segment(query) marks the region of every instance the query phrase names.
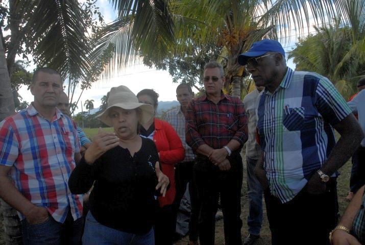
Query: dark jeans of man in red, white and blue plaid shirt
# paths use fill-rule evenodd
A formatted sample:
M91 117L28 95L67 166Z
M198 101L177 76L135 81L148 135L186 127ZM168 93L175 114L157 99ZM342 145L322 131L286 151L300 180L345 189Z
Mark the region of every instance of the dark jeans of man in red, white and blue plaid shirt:
M31 225L27 219L21 220L23 243L25 245L79 245L82 233L82 218L74 221L70 212L65 222L57 222L51 215L40 224Z

